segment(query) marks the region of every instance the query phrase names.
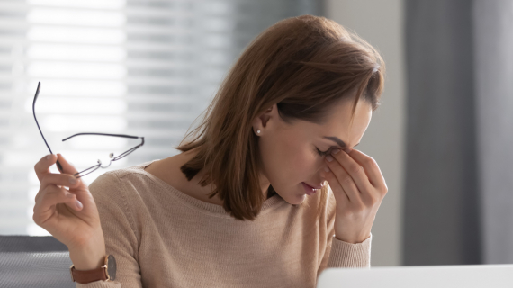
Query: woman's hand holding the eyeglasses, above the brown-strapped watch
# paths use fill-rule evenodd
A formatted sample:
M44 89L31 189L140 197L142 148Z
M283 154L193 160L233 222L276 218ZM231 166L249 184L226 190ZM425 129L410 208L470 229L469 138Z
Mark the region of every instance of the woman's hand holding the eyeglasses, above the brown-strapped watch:
M52 174L49 167L57 160L64 171ZM34 170L40 180L34 222L67 246L77 270L102 266L106 253L100 215L87 184L74 176L78 171L60 154L41 158Z

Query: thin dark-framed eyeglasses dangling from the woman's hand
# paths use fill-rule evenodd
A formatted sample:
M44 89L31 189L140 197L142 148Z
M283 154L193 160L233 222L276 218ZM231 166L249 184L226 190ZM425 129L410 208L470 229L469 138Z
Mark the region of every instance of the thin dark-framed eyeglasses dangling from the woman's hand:
M42 134L42 132L41 132L40 124L38 123L38 120L37 120L37 118L36 118L35 106L36 106L36 100L38 100L38 95L40 94L40 85L41 85L41 83L39 82L39 83L38 83L38 88L37 88L37 90L36 90L36 94L35 94L35 96L34 96L34 102L32 103L32 112L34 113L34 120L36 121L36 125L38 125L38 129L40 130L40 133L41 133L41 136L42 136L42 138L43 138L43 140L44 140L44 143L46 144L46 147L48 147L48 149L49 149L49 154L53 154L53 153L51 152L51 148L49 148L49 145L48 145L48 143L47 143L46 139L44 138L44 136L43 136L43 134ZM89 168L87 168L87 169L85 169L85 170L83 170L83 171L80 171L80 172L78 172L78 173L74 174L74 176L76 176L76 175L79 175L79 174L80 174L80 175L79 175L79 176L77 176L76 178L80 178L80 177L83 177L83 176L85 176L85 175L89 175L89 174L93 173L94 171L96 171L96 170L97 170L97 169L99 169L99 168L106 168L106 167L108 167L108 166L111 166L111 164L112 164L112 162L113 162L113 161L117 161L117 160L119 160L119 159L121 159L121 158L123 158L123 157L126 157L126 156L127 156L127 155L129 155L131 152L133 152L133 151L137 150L137 148L139 148L139 147L141 147L142 145L144 145L144 137L130 136L130 135L123 135L123 134L105 134L105 133L78 133L78 134L75 134L75 135L71 135L71 136L67 137L66 139L62 139L62 141L64 142L64 141L66 141L67 139L71 139L71 138L73 138L73 137L76 137L76 136L83 136L83 135L98 135L98 136L121 137L121 138L130 138L130 139L141 139L141 142L140 142L140 144L139 144L139 145L137 145L137 146L135 146L135 147L133 147L133 148L130 148L130 149L128 149L128 150L126 150L126 151L124 151L124 152L123 152L123 153L121 153L119 156L114 157L114 153L109 154L109 157L111 158L111 160L110 160L110 162L109 162L109 165L107 165L107 166L102 166L102 161L98 159L98 164L97 164L97 165L91 166L91 167L89 167ZM58 166L59 171L61 171L61 172L62 172L62 171L63 171L63 170L62 170L62 166L60 165L60 163L58 163L58 160L57 160L57 166ZM82 175L82 173L85 173L85 174L84 174L84 175Z

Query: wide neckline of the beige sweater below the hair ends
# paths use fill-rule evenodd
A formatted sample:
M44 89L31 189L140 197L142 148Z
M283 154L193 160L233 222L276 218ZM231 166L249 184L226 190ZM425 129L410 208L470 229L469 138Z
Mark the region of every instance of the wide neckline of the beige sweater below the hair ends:
M160 159L151 160L151 161L133 166L133 168L135 168L136 170L139 170L139 172L142 173L143 175L147 175L151 180L153 180L154 182L156 182L157 184L162 186L164 189L166 189L166 191L169 191L177 199L179 199L181 202L184 202L188 206L191 206L196 210L208 211L208 212L217 214L217 216L221 216L224 218L233 218L232 216L229 215L229 213L227 211L224 210L223 206L209 203L209 202L203 202L202 200L196 199L193 196L189 196L186 193L179 191L172 185L167 184L164 180L162 180L162 179L158 178L157 176L155 176L151 173L148 173L148 171L144 170L144 168L146 168L147 166L151 165L153 162L158 161L158 160L160 160ZM271 198L266 199L266 201L262 204L262 209L260 210L259 215L263 215L269 211L273 211L274 209L272 209L272 208L283 205L284 203L286 203L284 201L284 199L276 193L275 195L271 196Z

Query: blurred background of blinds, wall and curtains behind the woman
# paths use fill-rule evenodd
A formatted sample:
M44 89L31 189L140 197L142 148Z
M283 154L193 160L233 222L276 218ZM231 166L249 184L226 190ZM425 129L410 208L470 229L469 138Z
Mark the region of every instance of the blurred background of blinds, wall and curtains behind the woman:
M0 235L31 220L33 166L54 153L85 176L177 154L258 33L328 17L379 49L382 106L358 147L389 193L372 266L513 262L513 0L4 0L0 2ZM58 173L55 166L50 169Z

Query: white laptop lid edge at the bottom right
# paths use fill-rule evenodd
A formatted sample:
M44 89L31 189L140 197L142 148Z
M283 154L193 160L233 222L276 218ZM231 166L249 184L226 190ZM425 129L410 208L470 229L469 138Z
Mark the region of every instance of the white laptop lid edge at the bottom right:
M317 288L513 287L513 265L328 268Z

